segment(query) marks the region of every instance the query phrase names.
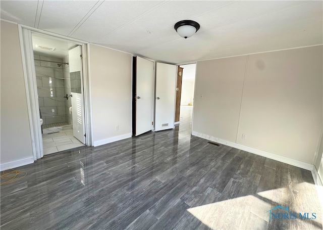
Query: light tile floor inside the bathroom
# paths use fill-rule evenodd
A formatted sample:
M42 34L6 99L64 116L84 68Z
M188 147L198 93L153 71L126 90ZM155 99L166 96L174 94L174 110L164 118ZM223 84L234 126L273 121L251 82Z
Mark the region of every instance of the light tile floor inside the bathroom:
M73 136L73 129L48 128L43 130L44 155L84 146Z

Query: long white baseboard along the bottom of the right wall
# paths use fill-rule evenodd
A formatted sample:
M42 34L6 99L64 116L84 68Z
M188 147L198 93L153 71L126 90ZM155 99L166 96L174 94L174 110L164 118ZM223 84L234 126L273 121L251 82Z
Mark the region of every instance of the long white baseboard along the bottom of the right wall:
M262 150L254 149L254 148L244 146L244 145L240 145L240 144L237 144L237 143L228 142L228 141L225 141L225 140L222 140L222 139L219 139L217 137L213 137L213 136L210 136L210 135L207 135L207 134L192 131L192 135L201 137L203 139L206 139L206 140L209 140L209 141L212 141L212 142L217 142L217 143L227 145L227 146L230 146L230 147L233 147L233 148L236 148L236 149L240 149L240 150L243 150L243 151L246 151L246 152L249 152L249 153L253 153L253 154L257 154L257 155L267 157L267 158L270 158L270 159L273 159L273 160L277 160L277 161L280 161L280 162L283 162L283 163L286 163L286 164L290 164L290 165L294 165L294 166L297 166L297 167L300 167L300 168L304 168L304 169L307 169L307 170L310 170L310 171L312 171L312 169L313 169L312 164L308 164L308 163L305 163L305 162L302 162L302 161L294 160L294 159L291 159L291 158L288 158L288 157L283 157L283 156L280 156L280 155L277 155L277 154L274 154L274 153L269 153L269 152L265 152L265 151L262 151Z

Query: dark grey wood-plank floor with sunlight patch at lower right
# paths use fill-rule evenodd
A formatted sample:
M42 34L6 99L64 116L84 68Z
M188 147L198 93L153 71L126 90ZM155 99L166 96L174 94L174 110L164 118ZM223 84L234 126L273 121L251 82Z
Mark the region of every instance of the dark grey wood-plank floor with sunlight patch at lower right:
M311 172L175 130L45 156L1 186L1 229L322 229ZM271 219L282 206L315 219ZM283 210L284 211L284 210Z

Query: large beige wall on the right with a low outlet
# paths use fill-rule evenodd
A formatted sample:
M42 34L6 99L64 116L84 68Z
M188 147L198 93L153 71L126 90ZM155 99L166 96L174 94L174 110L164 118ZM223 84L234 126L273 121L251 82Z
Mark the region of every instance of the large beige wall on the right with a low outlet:
M314 164L322 75L322 46L198 62L193 131Z

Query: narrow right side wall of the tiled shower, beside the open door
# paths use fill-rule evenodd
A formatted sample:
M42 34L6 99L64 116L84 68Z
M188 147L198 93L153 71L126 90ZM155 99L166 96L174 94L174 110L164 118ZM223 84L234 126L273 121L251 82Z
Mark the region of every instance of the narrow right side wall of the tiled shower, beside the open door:
M69 56L63 58L64 63L69 62ZM69 65L63 65L63 77L64 77L64 94L71 94L71 79L70 79L70 67ZM72 114L70 114L70 107L72 106L72 99L65 99L65 114L66 122L72 124Z

